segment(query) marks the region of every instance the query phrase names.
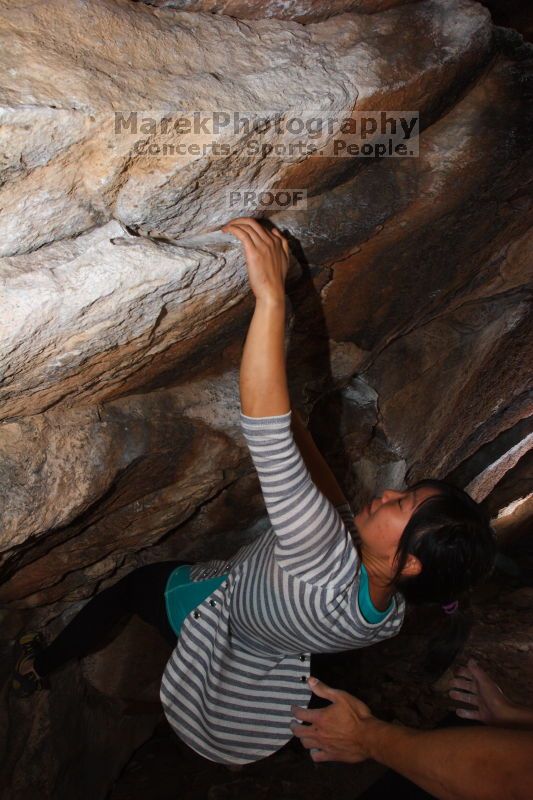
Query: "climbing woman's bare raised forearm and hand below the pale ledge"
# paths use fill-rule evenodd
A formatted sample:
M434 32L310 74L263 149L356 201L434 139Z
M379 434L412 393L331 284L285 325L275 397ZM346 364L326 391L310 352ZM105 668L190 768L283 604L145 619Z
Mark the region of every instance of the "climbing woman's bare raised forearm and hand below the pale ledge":
M244 247L255 310L241 361L242 413L269 417L290 410L285 367L285 278L289 244L276 230L238 217L222 228Z

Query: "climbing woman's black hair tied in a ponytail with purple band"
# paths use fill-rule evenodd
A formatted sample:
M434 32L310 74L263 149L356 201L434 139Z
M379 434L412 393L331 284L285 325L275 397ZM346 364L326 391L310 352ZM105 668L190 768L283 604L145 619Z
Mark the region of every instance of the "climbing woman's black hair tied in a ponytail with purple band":
M396 552L395 589L408 603L439 606L459 601L454 613L440 610L437 634L428 643L424 667L440 675L463 648L472 617L468 594L494 567L496 537L483 508L447 481L426 479L409 490L429 487L438 494L424 500L405 526ZM409 555L422 564L414 576L402 576Z

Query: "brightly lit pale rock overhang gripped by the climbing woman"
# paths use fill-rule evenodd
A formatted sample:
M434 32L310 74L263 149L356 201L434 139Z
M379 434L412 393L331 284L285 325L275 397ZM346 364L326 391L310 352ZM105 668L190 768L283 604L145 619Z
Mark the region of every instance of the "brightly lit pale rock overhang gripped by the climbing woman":
M416 47L397 36L407 19ZM359 100L423 107L481 64L490 45L486 13L465 0L350 15L341 37L336 19L305 30L276 20L243 27L112 0L54 0L31 16L9 4L3 20L0 276L13 316L2 329L4 419L123 393L166 350L183 363L208 323L213 338L215 319L228 326L244 294L240 245L209 236L235 216L229 191L294 186L297 177L308 186L346 166L314 159L312 174L291 173L282 158L246 156L243 133L229 136L228 158L142 155L139 140L161 147L187 137L160 128L117 135L113 112L161 120L192 109L253 111L270 121L259 141L275 144L284 139L271 130L280 112L340 124ZM208 44L219 39L223 54ZM57 80L62 72L69 81Z

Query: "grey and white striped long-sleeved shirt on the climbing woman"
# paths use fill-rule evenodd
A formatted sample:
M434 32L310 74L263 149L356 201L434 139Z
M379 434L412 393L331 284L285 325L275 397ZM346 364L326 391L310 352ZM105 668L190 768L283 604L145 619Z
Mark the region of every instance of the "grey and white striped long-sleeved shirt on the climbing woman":
M311 698L312 653L394 636L405 612L395 594L381 622L362 615L351 510L313 483L291 412L241 422L271 527L228 561L192 567L192 580L227 579L185 619L160 691L178 736L223 764L264 758L291 738L291 705Z

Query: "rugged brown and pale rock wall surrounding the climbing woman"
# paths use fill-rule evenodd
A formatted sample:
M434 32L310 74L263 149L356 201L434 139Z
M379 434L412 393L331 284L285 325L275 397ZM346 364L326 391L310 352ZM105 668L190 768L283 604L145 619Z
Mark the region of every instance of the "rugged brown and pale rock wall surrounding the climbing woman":
M502 530L528 529L531 52L470 0L278 6L0 0L4 677L23 627L53 635L134 566L264 529L238 426L251 298L218 231L231 190L308 191L249 215L291 241L291 392L353 504L455 475L494 517L518 502ZM164 154L198 140L164 120L196 109L250 113L274 149L232 130L226 157ZM275 155L280 120L372 109L420 111L419 157ZM103 680L133 639L73 666L33 719L5 689L13 798L36 796L45 763L45 795L103 796L154 724L112 746L158 657ZM70 736L110 720L81 766L42 736L80 692Z

